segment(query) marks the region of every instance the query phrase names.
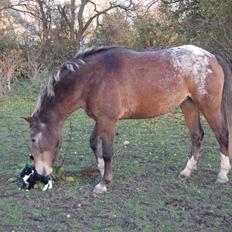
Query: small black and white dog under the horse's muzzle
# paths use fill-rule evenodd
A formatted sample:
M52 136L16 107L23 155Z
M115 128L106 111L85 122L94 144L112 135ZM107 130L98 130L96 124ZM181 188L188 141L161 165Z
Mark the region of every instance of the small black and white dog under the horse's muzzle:
M37 181L44 183L42 191L52 188L52 179L50 176L40 176L34 166L26 165L20 173L23 185L22 188L30 190L34 187Z

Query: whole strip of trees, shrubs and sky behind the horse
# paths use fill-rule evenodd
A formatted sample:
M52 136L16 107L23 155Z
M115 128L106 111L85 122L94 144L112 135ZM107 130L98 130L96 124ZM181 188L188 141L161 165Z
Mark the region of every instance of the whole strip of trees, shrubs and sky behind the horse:
M39 78L93 45L155 50L195 44L231 63L230 0L139 2L1 1L0 95L15 79Z

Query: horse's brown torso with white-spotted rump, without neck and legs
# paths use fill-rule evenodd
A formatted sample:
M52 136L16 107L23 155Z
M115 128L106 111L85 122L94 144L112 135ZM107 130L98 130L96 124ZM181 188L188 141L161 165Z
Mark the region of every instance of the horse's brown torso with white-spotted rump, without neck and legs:
M223 88L215 56L192 45L154 52L112 49L101 62L105 70L94 102L99 99L99 112L118 119L159 116L187 97L200 101L212 92L211 82Z

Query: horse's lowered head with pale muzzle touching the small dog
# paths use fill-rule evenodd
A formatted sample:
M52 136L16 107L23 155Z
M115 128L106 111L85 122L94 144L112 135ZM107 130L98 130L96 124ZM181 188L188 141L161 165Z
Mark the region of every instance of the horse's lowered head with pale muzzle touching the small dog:
M32 150L36 171L42 176L52 172L52 166L60 146L60 132L48 123L34 117L24 118L31 129Z

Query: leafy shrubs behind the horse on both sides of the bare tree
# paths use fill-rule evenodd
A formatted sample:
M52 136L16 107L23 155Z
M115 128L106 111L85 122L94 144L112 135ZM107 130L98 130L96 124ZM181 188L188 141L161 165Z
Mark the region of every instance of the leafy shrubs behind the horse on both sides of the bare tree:
M196 44L232 62L232 2L175 2L160 1L147 11L134 9L129 17L122 10L114 10L89 31L97 45L155 50ZM58 21L56 24L59 25ZM0 96L11 89L13 81L41 78L75 55L75 43L67 36L68 27L64 21L61 25L60 31L56 31L57 27L53 29L46 46L39 40L19 40L10 28L1 29Z

